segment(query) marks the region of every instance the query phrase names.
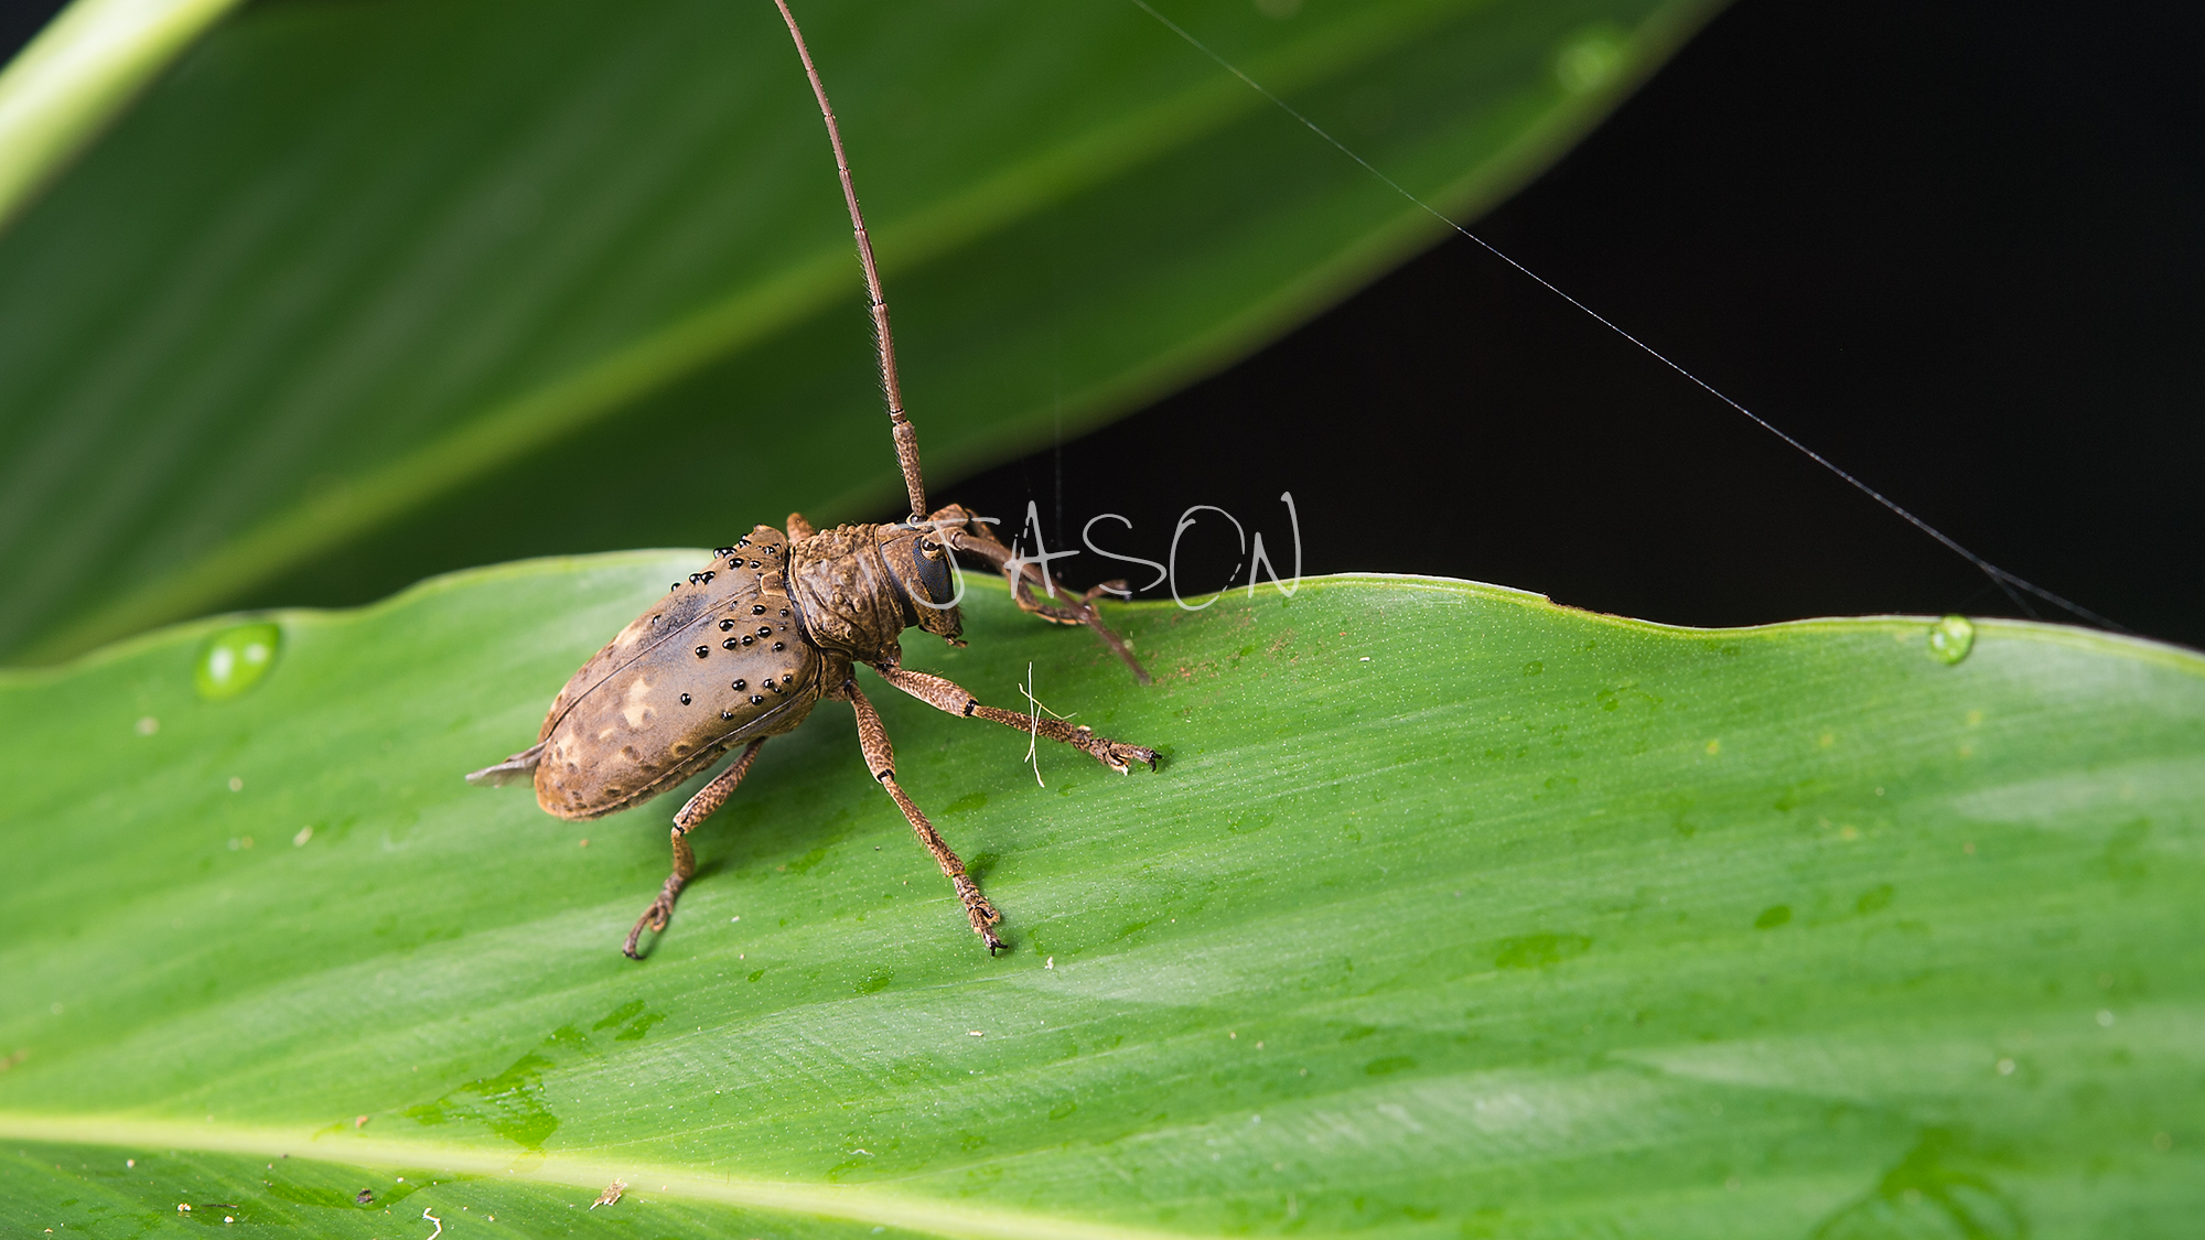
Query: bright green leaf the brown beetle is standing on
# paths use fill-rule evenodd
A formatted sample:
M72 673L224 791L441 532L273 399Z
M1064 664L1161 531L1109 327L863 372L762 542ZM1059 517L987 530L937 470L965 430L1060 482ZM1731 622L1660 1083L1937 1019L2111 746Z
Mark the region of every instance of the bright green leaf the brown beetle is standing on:
M825 704L635 964L679 797L560 823L461 772L695 563L249 618L280 640L218 699L234 620L0 680L0 1218L2020 1238L2205 1205L2190 651L1325 578L1114 609L1136 686L977 589L970 649L915 666L999 704L1032 666L1166 752L1043 746L1036 785L1025 737L869 680L1012 951Z

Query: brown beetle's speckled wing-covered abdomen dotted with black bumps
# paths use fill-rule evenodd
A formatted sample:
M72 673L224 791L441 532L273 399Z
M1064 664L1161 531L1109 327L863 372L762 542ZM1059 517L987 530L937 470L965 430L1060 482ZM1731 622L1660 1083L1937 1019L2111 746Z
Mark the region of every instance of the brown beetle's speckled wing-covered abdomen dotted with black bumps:
M785 554L761 525L567 682L542 728L538 805L560 819L626 810L811 713L820 655L796 633Z

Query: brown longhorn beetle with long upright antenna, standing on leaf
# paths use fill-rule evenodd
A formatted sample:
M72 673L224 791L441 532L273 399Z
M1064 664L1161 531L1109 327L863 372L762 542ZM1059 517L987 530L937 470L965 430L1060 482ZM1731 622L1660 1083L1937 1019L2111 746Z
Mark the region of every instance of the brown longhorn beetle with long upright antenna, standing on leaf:
M1102 624L1094 605L1098 594L1122 582L1076 598L1061 596L1041 569L990 534L983 519L957 505L926 514L917 435L895 384L889 304L880 293L873 243L858 212L858 190L842 154L842 135L796 15L785 0L774 4L789 26L789 38L796 40L796 55L811 79L842 174L842 196L849 203L858 260L873 302L880 380L889 397L889 426L911 496L911 519L895 525L838 525L814 532L792 512L787 534L759 525L747 538L712 552L710 565L690 574L686 582L677 580L668 598L637 616L573 673L551 702L534 746L467 774L467 783L501 785L534 774L536 803L545 812L560 819L598 819L639 805L712 766L734 746L743 746L743 755L675 814L673 874L622 947L628 958L637 958L635 944L644 927L666 929L675 898L697 869L684 838L690 827L728 803L767 737L803 724L822 697L849 702L858 715L858 746L864 750L867 768L895 799L926 852L935 854L942 874L964 900L972 931L994 953L1003 947L994 936L994 924L1003 918L981 896L979 885L964 872L964 863L926 814L895 783L889 733L873 704L858 691L856 664L871 666L895 688L950 715L988 719L1069 744L1120 774L1136 761L1155 768L1155 750L1098 737L1091 728L1074 728L1061 719L981 706L957 684L902 666L900 635L908 627L961 644L957 635L964 622L953 591L950 554L966 552L1010 580L1019 607L1056 624L1094 629L1142 684L1149 675L1127 644ZM1047 600L1034 594L1036 587Z

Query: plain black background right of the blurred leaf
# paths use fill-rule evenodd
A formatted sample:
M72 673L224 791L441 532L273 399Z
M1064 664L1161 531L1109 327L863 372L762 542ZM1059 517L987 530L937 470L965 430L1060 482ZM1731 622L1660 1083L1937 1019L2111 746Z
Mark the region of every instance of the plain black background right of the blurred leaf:
M2205 644L2201 57L2198 4L1742 0L1475 229L1991 563ZM1312 137L1310 159L1336 154ZM1118 512L1133 532L1098 543L1155 560L1195 503L1272 552L1292 490L1303 571L1676 624L2018 613L1460 238L1131 419L935 490L1034 499L1052 545ZM1186 538L1184 589L1215 589L1230 527Z

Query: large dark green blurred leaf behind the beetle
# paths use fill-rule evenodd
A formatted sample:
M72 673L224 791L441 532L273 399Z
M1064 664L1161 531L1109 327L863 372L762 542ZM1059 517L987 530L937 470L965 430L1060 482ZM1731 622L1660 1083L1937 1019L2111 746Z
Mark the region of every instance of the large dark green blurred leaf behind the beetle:
M1711 0L1169 9L1475 212ZM800 11L937 483L1435 236L1122 0ZM0 653L893 503L822 137L763 0L240 11L0 236Z

